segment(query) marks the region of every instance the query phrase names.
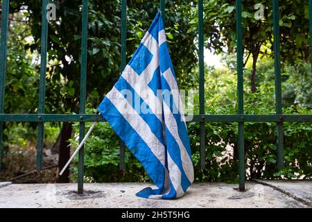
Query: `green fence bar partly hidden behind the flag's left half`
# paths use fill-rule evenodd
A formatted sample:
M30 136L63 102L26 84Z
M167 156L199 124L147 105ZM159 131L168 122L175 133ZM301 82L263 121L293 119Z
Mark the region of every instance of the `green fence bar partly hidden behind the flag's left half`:
M125 69L126 59L126 37L127 37L127 0L121 1L121 71ZM119 147L119 170L125 170L125 144L120 141Z

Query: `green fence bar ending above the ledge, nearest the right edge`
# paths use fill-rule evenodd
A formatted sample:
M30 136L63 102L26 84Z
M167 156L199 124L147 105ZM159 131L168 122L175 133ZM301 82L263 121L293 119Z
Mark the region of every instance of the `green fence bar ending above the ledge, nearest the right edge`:
M275 69L275 106L276 114L282 114L281 106L281 61L279 51L279 1L273 0L273 35L274 35L274 69ZM283 158L283 122L277 122L277 167L284 167Z

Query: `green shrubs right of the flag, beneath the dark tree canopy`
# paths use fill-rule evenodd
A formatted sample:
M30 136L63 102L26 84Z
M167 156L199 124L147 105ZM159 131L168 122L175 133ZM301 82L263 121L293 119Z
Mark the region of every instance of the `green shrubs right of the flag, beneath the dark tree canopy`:
M205 79L205 111L207 114L234 114L236 108L236 74L235 62L227 55L227 68L214 69L207 67ZM274 66L270 59L263 59L258 67L258 90L251 93L245 81L244 108L245 114L274 114L275 85ZM306 92L305 87L311 83L309 65L298 62L295 67L285 66L292 70L283 76L283 89L293 86L295 98ZM299 69L298 67L302 67ZM305 67L305 69L304 69ZM309 66L310 67L310 66ZM245 69L246 76L248 69ZM306 82L302 82L304 76ZM295 82L295 83L294 83ZM309 98L309 94L308 94ZM284 103L286 114L311 114L307 103ZM198 104L196 105L198 107ZM199 124L189 123L189 137L193 150L193 160L198 180L236 181L238 160L237 123L205 123L206 128L206 164L207 169L200 170L199 164ZM248 178L311 178L311 123L284 123L284 158L286 168L277 169L277 137L275 123L245 123L245 168ZM220 153L222 154L221 156ZM218 173L216 173L218 172Z

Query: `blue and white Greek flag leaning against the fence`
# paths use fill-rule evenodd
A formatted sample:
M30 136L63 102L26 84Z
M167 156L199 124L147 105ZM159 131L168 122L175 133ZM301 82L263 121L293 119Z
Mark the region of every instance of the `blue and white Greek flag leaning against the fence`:
M98 110L158 188L137 196L185 194L194 178L191 148L160 12Z

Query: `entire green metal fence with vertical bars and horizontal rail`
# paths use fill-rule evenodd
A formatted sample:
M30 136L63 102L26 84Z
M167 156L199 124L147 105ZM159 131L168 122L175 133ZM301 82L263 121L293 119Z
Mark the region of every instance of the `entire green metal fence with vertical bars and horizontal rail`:
M46 6L48 0L42 0L42 37L41 37L41 66L40 66L40 90L39 107L37 114L5 114L5 80L6 80L6 55L8 38L8 15L10 0L2 0L1 15L1 51L0 51L0 160L2 148L2 134L4 122L37 122L38 123L38 142L37 142L37 170L42 169L42 148L44 144L44 123L45 122L79 122L80 141L85 136L85 122L104 121L100 115L85 114L86 101L86 82L87 82L87 23L88 23L88 0L82 0L83 19L82 19L82 42L81 42L81 71L80 71L80 114L44 114L45 83L46 83L46 51L48 36L48 21L46 19ZM127 1L121 0L121 69L125 67L126 57L126 18ZM160 10L165 21L166 1L160 0ZM281 68L279 56L279 3L272 0L273 6L273 33L274 33L274 56L275 56L275 96L276 114L270 115L246 115L243 109L243 42L242 42L242 17L241 0L236 0L236 46L237 46L237 92L238 110L237 114L205 114L204 96L204 14L203 0L198 0L198 55L199 55L199 76L200 76L200 114L194 115L193 120L200 124L200 166L205 168L205 122L237 122L239 123L239 190L245 189L245 169L244 169L244 123L245 122L275 122L277 124L277 166L281 169L284 165L283 160L283 123L284 122L312 122L312 115L283 114L281 106ZM310 35L312 36L312 0L309 0L310 13ZM312 38L311 38L312 46ZM312 48L311 48L312 54ZM312 64L312 57L311 57ZM83 153L81 148L78 161L78 193L83 193ZM120 168L124 169L125 146L121 142L120 146ZM1 167L1 161L0 161ZM1 168L0 168L1 169Z

